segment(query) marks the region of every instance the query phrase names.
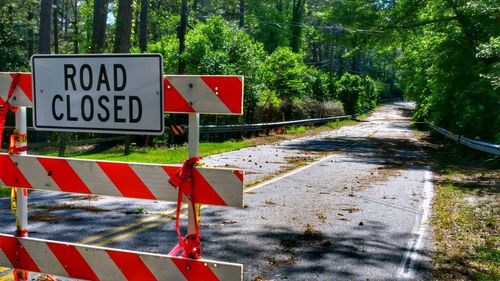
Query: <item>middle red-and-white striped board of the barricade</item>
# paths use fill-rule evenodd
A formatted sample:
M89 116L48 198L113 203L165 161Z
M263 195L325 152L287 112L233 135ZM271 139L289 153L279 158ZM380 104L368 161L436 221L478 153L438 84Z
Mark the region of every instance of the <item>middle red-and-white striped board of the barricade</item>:
M177 201L169 184L180 165L94 161L0 153L0 184L69 193ZM195 202L243 206L244 171L196 167Z

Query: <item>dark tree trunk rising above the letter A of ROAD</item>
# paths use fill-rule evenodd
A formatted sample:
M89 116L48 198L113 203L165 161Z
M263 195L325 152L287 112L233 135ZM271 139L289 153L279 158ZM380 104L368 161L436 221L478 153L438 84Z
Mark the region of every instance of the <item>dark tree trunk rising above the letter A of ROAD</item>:
M76 6L76 1L75 1ZM76 8L75 8L76 9ZM106 39L106 21L108 20L108 0L94 1L94 17L92 21L92 42L90 51L102 53Z

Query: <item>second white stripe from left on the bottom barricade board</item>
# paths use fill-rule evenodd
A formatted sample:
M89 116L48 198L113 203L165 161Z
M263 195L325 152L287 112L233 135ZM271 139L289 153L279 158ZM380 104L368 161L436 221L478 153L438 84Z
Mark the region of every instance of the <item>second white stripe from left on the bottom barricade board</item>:
M127 280L105 251L78 246L76 249L99 279L110 281Z

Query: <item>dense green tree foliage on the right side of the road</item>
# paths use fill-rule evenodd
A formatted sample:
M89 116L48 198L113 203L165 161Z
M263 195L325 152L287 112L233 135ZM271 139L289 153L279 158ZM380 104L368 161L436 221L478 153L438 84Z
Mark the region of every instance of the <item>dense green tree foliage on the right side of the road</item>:
M415 120L498 142L499 7L491 1L450 3L413 7L405 18L419 28L404 33L400 84L417 101ZM400 7L412 6L404 1Z

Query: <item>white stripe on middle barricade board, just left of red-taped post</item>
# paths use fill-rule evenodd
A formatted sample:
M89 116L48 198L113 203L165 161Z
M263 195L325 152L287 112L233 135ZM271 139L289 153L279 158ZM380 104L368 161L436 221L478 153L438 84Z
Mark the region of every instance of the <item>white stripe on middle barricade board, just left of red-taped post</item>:
M158 200L177 201L177 190L168 183L170 177L161 166L130 165Z

